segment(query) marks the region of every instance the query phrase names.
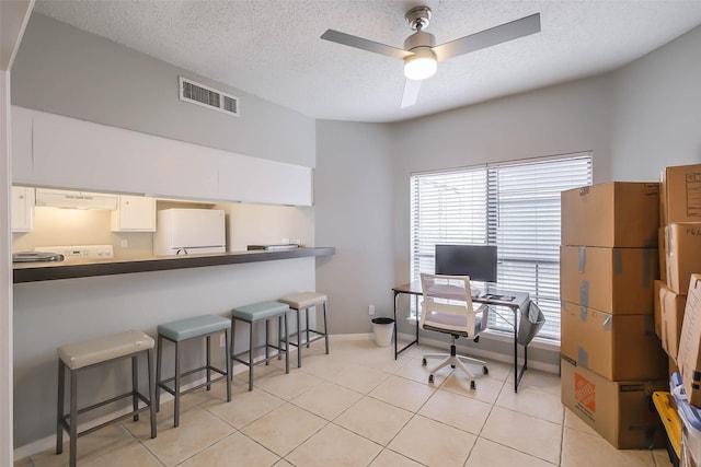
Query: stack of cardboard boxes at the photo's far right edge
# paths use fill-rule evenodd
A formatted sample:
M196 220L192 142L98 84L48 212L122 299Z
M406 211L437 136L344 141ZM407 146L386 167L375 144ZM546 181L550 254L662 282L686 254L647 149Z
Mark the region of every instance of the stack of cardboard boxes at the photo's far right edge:
M701 165L667 167L660 174L659 337L675 362L689 292L689 279L701 272Z

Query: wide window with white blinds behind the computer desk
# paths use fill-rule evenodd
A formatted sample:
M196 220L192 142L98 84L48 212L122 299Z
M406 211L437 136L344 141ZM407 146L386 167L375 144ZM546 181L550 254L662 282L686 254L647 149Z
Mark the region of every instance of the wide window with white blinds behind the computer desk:
M560 192L585 185L590 153L412 175L412 280L434 271L436 244L496 245L499 287L529 292L547 318L539 336L560 340ZM505 318L490 327L510 331Z

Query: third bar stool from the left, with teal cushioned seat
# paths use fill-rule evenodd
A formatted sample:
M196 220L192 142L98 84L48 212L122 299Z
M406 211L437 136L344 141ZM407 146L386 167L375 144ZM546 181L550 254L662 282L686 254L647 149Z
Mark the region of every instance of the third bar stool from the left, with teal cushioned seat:
M269 364L271 355L269 349L277 349L277 358L280 359L283 352L283 340L287 341L288 326L287 326L287 313L289 306L280 302L260 302L251 305L244 305L235 307L231 311L231 360L235 360L239 363L243 363L249 367L249 390L253 390L253 366L265 362ZM269 323L271 319L277 318L278 332L277 332L277 346L269 343ZM281 322L285 320L285 338L283 339ZM233 341L235 338L237 322L244 322L249 324L249 350L234 354ZM265 345L255 346L253 339L254 324L265 322ZM256 349L265 348L265 359L257 362L253 362L253 351ZM248 353L249 360L242 360L239 357ZM287 346L285 346L285 373L289 373L289 352Z

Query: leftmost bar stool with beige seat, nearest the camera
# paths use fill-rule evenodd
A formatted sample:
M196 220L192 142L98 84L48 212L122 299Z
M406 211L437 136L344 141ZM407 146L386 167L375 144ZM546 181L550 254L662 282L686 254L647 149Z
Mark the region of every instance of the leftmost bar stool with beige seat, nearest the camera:
M151 437L156 437L156 407L153 406L153 397L156 386L152 376L152 358L153 358L153 339L146 334L137 330L115 334L100 339L91 339L77 343L69 343L59 347L58 353L58 407L56 417L56 454L64 452L64 429L70 437L70 458L69 465L76 466L78 457L78 437L88 433L92 433L108 424L118 422L128 417L133 417L134 421L139 420L139 412L150 410ZM146 397L139 393L138 382L138 361L139 353L146 353L149 373L149 396ZM85 370L93 369L107 363L116 363L124 359L131 360L131 390L111 399L94 404L92 406L78 409L78 376ZM66 369L70 376L70 411L64 413L65 392L66 392ZM118 400L131 397L133 410L96 427L78 432L78 415L85 413L90 410L113 404ZM139 408L139 400L145 406Z

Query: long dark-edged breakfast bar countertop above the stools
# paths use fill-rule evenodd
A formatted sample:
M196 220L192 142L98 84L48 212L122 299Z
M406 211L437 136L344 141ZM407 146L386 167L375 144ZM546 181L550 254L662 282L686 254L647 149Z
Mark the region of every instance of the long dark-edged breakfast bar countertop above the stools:
M66 260L60 262L15 262L13 282L38 282L130 272L164 271L169 269L202 268L278 259L331 256L334 247L301 247L283 250L231 252L215 255L157 256L143 259Z

